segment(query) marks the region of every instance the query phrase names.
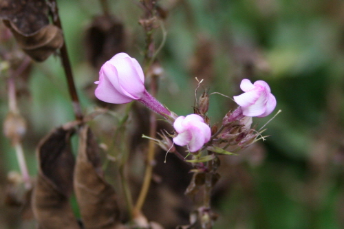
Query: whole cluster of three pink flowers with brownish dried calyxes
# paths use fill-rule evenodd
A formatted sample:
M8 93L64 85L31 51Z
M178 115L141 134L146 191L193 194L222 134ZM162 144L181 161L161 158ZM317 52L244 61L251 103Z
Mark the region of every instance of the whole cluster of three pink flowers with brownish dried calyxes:
M119 53L107 61L100 69L99 81L95 83L98 85L95 94L99 100L117 104L138 100L155 113L164 116L166 120L173 120L174 144L187 146L191 153L204 149L206 145L213 147L222 142L228 144L234 142L240 149L251 144L258 135L250 129L252 117L268 116L276 107L276 98L271 94L266 82L257 80L252 84L250 80L244 79L240 85L244 93L234 96L239 107L226 114L220 131L212 136L211 128L202 118L202 116L206 117L205 113L208 111L207 94L201 96L200 103L197 105L202 116L198 114L190 114L186 117L175 116L148 93L144 87L144 73L140 64L128 54ZM160 143L164 149L171 144L166 139Z

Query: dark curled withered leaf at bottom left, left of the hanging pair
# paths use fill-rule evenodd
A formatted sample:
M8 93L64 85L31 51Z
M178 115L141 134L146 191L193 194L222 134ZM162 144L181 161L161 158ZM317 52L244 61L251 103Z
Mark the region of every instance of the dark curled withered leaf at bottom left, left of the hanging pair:
M73 188L72 127L59 127L41 140L39 174L32 195L32 210L40 229L80 229L69 205Z

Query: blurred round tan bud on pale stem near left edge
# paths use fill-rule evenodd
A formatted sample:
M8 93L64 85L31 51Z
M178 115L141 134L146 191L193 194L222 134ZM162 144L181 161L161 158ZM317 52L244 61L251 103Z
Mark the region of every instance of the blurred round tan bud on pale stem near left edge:
M19 113L9 112L3 122L4 135L14 144L21 141L25 132L25 119Z

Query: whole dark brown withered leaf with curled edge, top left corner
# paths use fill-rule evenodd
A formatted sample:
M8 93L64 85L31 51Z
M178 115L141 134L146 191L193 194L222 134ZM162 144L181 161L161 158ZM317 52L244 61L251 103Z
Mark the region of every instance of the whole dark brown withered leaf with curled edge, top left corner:
M0 0L0 18L34 61L45 61L63 45L60 28L49 24L45 0Z

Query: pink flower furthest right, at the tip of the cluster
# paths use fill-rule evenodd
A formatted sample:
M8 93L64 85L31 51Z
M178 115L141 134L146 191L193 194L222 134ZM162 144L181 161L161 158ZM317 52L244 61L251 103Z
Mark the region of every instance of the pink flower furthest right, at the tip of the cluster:
M265 117L276 107L276 98L271 94L268 83L257 80L254 84L244 79L240 84L245 93L234 96L235 102L241 107L244 116Z

